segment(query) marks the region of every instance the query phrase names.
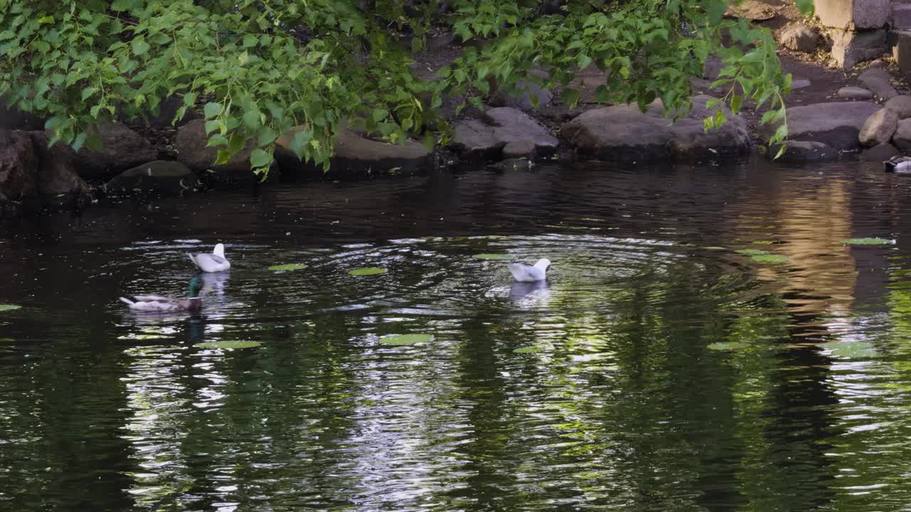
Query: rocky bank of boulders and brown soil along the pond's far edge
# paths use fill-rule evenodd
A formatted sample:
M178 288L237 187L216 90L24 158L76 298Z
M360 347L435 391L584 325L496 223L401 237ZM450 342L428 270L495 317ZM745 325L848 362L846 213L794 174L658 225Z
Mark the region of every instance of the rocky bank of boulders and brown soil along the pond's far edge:
M903 77L900 44L896 43L894 54L886 46L861 51L856 42L845 50L831 31L796 20L793 7L783 2L753 0L752 4L756 4L753 14L745 16L775 31L783 67L793 75L793 92L787 100L789 143L780 161L882 161L911 153L911 91ZM866 33L856 34L869 38ZM429 47L415 63L415 72L428 77L462 51L451 35L440 36ZM861 62L871 58L875 60ZM537 159L638 163L745 159L764 151L763 142L776 127L760 125L764 112L749 101L740 115L723 105L707 107L711 98L726 92L711 88L720 68L717 60L710 59L703 76L691 79L692 111L676 123L662 115L660 100L645 112L636 106L597 103L594 90L603 83L603 74L591 67L581 70L570 84L581 91L576 108L560 103L561 91L531 83L515 96L495 91L483 109L467 108L456 115L455 108L444 107L443 115L452 128L445 147L427 148L417 141L392 145L363 132L343 130L335 139L331 170L323 173L294 157L285 147L290 140L286 135L278 140L270 181L371 179L468 163L512 169ZM447 104L459 102L460 98L453 98ZM78 152L62 145L49 147L42 119L0 107L0 212L15 215L84 205L102 197L175 195L259 181L251 172L249 149L213 166L217 150L206 145L202 119L189 114L177 127L170 125L178 107L179 100L166 101L157 118L121 119L103 127L103 148ZM706 132L702 119L716 108L722 108L729 120L722 128Z

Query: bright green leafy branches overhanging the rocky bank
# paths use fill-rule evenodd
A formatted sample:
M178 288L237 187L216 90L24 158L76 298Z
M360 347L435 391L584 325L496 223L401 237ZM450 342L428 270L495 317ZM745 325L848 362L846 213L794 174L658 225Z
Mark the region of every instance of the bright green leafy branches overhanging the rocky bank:
M716 85L731 86L722 101L736 113L749 97L770 107L763 122L781 122L791 77L767 30L723 16L729 3L568 0L543 14L537 0L0 0L0 96L78 149L98 147L100 124L154 116L176 95L175 122L189 109L206 119L214 163L251 148L258 173L293 127L288 147L325 167L351 119L393 143L432 144L447 133L443 97L480 104L492 84L559 86L572 106L569 83L590 65L606 77L598 101L645 108L660 97L680 116L689 79L715 54ZM410 66L442 27L478 44L440 79L421 79ZM724 120L717 109L705 128ZM780 128L770 142L786 136Z

